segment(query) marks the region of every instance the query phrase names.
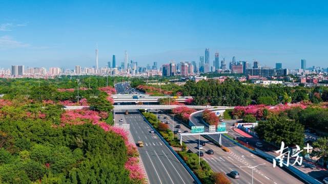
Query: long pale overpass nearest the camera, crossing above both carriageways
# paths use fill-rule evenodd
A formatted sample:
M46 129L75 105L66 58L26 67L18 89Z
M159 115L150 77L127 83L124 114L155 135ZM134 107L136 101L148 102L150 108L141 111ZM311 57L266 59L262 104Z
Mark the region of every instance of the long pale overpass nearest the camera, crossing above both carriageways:
M189 107L193 109L213 109L213 108L220 108L220 109L233 109L233 106L203 106L203 105L113 105L114 110L129 110L129 109L174 109L177 107ZM83 109L89 108L89 106L65 106L65 110L76 110L76 109Z

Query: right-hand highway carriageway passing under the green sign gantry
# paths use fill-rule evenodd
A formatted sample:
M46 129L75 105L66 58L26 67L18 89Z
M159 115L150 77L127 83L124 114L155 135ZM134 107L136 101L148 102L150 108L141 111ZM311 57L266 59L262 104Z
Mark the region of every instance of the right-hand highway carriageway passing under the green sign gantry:
M156 113L155 111L153 112ZM170 129L172 129L172 118L166 114L160 113L160 111L158 115L161 115L162 117L168 117L168 120L171 121L169 127ZM164 119L161 119L161 121L166 122L166 120ZM184 126L183 124L180 124L177 121L175 121L174 124L179 124L181 126L180 129L182 132L185 130L188 130L190 132L190 129ZM174 128L174 131L175 130L177 130L177 128ZM215 140L218 140L218 135L215 135L214 138ZM265 165L258 166L254 170L254 183L303 183L302 181L285 172L281 168L273 168L272 163L267 162L267 160L264 160L256 155L251 154L243 148L240 148L228 139L225 139L223 136L222 144L228 147L231 152L223 151L221 148L204 139L204 137L202 136L200 136L200 140L206 141L206 146L203 146L202 150L204 153L203 158L209 163L209 165L215 172L226 173L233 183L252 183L252 170L248 167L255 166L258 164ZM186 143L186 145L191 151L198 151L198 149L196 149L196 146L198 144L197 135L183 136L182 141ZM206 151L209 149L214 150L214 155L209 155L206 153ZM228 173L230 173L232 170L238 171L240 173L240 178L231 178Z

